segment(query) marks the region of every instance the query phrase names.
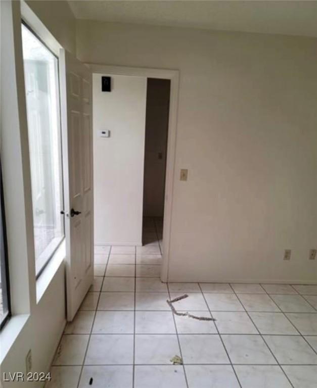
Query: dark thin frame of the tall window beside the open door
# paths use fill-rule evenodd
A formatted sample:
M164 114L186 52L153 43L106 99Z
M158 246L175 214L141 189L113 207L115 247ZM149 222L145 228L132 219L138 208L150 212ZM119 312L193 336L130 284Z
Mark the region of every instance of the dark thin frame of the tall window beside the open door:
M61 187L61 199L62 199L62 204L64 207L64 174L63 174L63 148L62 148L62 117L61 117L61 93L60 93L60 63L59 63L59 57L58 55L56 55L54 53L53 50L50 49L50 47L43 41L43 39L40 38L40 36L38 36L38 34L28 25L28 23L24 20L24 18L22 17L21 18L21 34L22 34L22 25L24 27L26 27L30 32L31 34L33 34L35 36L36 39L38 39L38 41L56 58L57 60L57 66L56 66L56 69L57 69L57 87L58 87L58 90L57 90L57 94L58 94L58 98L57 98L57 102L58 102L58 109L57 109L57 114L58 114L58 123L59 123L59 130L58 130L58 142L59 142L59 152L60 152L60 187ZM22 47L23 47L23 44L22 44ZM23 63L23 74L25 74L24 72L24 63ZM26 102L26 101L25 101ZM29 146L28 146L28 150L29 149ZM32 183L31 183L32 184ZM63 210L63 209L61 209ZM62 228L63 228L63 235L60 236L60 237L55 237L53 240L51 240L50 244L46 247L46 249L41 253L40 256L43 256L43 258L41 259L42 263L40 265L40 268L37 269L37 266L36 266L36 260L35 260L35 276L36 276L36 280L39 278L39 276L42 274L42 272L44 271L44 269L46 269L46 267L48 266L49 262L51 261L51 259L53 258L54 254L56 253L56 251L59 249L59 247L61 246L61 244L63 243L64 239L65 239L65 218L62 217ZM33 222L33 230L34 230L34 222ZM55 241L55 244L52 244L53 241ZM34 244L34 247L35 247L35 240L33 238L33 244ZM34 251L35 252L35 251Z

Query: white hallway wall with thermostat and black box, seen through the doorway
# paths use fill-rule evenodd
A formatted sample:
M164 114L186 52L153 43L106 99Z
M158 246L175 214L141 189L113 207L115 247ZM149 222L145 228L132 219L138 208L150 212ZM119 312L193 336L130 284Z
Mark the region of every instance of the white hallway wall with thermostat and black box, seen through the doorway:
M93 75L95 244L141 245L147 80L111 76L102 92L101 77Z

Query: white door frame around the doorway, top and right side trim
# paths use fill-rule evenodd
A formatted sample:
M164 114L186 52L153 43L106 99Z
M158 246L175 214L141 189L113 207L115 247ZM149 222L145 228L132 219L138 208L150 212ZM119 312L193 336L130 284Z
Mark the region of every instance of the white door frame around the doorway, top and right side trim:
M142 67L125 67L111 65L97 65L87 63L92 73L128 75L146 78L162 78L170 80L170 101L168 118L168 138L166 156L166 177L165 177L165 201L164 201L164 223L163 223L163 262L161 267L161 280L167 282L169 256L170 256L170 233L171 216L173 205L173 181L175 170L175 146L177 128L177 106L178 106L178 86L179 71L165 69L149 69ZM94 104L94 102L93 102ZM94 129L93 129L94 130Z

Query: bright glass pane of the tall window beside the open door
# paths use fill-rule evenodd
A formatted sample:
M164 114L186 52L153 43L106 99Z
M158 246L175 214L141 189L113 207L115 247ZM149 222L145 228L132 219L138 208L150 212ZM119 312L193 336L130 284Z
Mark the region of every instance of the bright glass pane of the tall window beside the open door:
M36 274L64 235L58 60L22 25Z

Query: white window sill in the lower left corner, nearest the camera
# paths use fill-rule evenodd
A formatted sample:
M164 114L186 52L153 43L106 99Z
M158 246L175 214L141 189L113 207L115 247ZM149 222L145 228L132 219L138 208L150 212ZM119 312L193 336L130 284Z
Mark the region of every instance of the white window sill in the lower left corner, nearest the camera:
M9 350L16 341L29 317L29 314L14 315L9 319L3 328L2 332L0 333L0 364L2 364L3 360L7 356Z

